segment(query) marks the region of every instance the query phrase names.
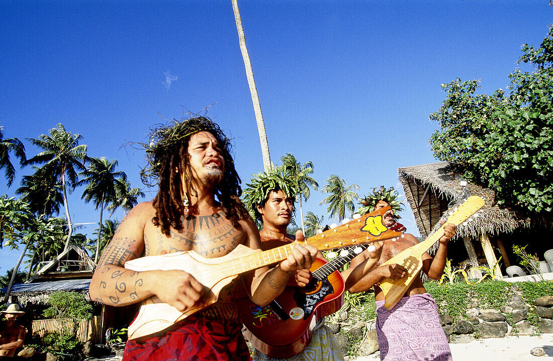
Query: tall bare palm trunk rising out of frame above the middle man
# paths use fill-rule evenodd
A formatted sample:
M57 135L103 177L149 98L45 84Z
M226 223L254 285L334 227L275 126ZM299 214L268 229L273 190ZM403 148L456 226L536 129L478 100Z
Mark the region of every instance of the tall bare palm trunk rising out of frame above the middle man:
M234 20L236 21L236 29L238 30L238 42L244 59L244 67L246 67L246 78L248 79L249 92L252 93L253 110L255 112L255 120L257 121L257 130L259 132L259 141L261 142L261 155L263 156L263 168L268 172L271 166L271 158L269 156L269 143L267 142L267 133L265 133L265 123L263 122L263 114L261 113L261 104L255 87L253 78L252 62L249 61L248 49L246 47L246 37L242 28L242 19L240 10L238 9L238 0L232 0L232 9L234 11Z

